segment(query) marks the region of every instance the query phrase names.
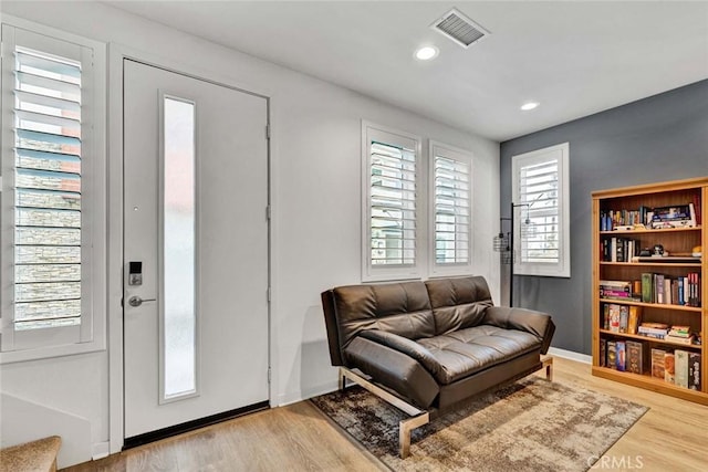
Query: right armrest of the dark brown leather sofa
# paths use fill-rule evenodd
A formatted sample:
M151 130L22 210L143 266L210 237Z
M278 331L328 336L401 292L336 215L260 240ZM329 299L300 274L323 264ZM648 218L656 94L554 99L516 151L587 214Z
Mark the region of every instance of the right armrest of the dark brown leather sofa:
M555 333L555 325L548 313L508 306L487 308L482 324L531 333L541 340L541 354L548 353Z

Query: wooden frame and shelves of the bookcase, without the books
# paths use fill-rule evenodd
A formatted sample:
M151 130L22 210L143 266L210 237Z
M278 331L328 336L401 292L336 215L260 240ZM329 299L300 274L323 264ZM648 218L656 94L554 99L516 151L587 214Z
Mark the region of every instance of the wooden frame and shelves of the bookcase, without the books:
M593 367L594 376L624 382L647 390L660 392L676 398L708 405L708 349L704 349L706 337L708 336L708 177L675 180L653 185L624 187L618 189L600 190L592 193L592 217L593 217ZM635 227L632 230L607 230L605 220L604 227L601 216L605 216L613 210L636 211L644 209L647 212L658 207L679 207L694 203L697 208L697 224L689 228L662 228L650 229L650 224L644 221L644 228ZM700 224L702 223L702 225ZM622 225L633 224L622 222ZM636 224L636 222L635 222ZM612 262L603 260L606 258L607 243L604 240L613 238L632 239L634 247L638 249L653 248L662 244L670 255L690 255L693 248L702 247L702 256L696 262L667 263L664 261L650 262ZM604 254L603 254L604 253ZM631 256L636 254L625 254L624 258L631 261ZM669 303L646 303L638 300L616 300L614 297L603 298L600 296L600 281L626 281L635 282L642 280L643 273L662 274L669 280L685 277L688 273L698 273L700 276L700 306L688 306ZM633 298L637 294L633 293ZM701 344L685 345L674 343L670 339L656 339L632 333L617 333L610 331L604 324L604 306L607 304L637 306L642 310L643 322L657 322L668 325L687 325L691 331L700 336ZM645 353L650 354L652 348L662 348L667 352L683 349L690 353L699 353L700 367L700 390L691 390L663 379L652 377L650 355L645 359L648 365L644 367L644 374L633 374L603 366L601 363L601 340L634 340L642 343Z

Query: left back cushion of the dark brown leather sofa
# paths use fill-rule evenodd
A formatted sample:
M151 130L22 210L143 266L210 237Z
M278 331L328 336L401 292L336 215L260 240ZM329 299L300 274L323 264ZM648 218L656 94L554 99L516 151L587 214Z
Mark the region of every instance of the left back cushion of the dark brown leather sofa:
M332 292L342 348L365 329L381 329L409 339L435 334L430 301L423 282L350 285Z

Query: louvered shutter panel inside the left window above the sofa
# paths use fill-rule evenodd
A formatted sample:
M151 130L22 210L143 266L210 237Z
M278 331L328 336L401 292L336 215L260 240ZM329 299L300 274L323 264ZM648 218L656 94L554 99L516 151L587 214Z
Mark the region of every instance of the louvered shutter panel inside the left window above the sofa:
M416 263L416 149L371 141L369 229L373 266Z

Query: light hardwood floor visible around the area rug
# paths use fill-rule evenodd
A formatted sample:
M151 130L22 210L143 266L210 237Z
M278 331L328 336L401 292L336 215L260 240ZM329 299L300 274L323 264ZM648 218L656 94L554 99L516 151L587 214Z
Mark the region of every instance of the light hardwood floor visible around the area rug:
M537 375L543 375L539 371ZM592 377L590 366L555 358L554 381L646 405L650 410L592 469L708 470L708 407ZM100 461L86 471L383 471L384 465L309 402L261 411Z

